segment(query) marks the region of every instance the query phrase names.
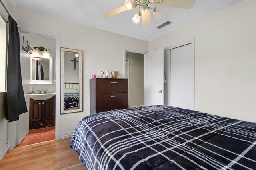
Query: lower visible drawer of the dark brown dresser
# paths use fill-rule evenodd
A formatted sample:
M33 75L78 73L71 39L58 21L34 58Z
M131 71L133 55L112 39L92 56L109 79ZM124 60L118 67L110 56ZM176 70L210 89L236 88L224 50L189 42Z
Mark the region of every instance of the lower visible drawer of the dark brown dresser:
M96 94L96 109L126 105L128 107L128 93Z

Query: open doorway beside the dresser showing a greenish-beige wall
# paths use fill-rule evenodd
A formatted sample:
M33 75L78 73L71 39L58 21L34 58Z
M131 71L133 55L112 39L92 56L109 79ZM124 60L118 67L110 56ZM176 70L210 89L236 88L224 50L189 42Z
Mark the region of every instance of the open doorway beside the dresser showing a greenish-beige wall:
M125 51L124 76L128 78L129 108L144 106L144 53Z

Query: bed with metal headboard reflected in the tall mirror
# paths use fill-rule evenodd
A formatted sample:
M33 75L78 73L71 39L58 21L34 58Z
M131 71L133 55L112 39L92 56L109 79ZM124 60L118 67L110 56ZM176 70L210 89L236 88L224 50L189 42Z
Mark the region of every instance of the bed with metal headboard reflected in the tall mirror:
M79 83L64 83L64 110L79 108Z

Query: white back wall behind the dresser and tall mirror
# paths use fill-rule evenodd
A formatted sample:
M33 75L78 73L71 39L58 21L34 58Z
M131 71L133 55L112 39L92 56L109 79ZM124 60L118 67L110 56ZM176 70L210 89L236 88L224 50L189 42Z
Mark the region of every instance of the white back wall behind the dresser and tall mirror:
M120 77L124 77L124 47L148 51L148 42L146 41L43 16L18 8L10 7L10 13L14 20L17 21L18 27L58 33L60 34L61 47L83 50L83 111L60 115L61 134L74 131L78 121L90 115L89 79L92 74L99 74L101 70L107 67L108 70L120 71ZM58 85L56 84L56 86Z

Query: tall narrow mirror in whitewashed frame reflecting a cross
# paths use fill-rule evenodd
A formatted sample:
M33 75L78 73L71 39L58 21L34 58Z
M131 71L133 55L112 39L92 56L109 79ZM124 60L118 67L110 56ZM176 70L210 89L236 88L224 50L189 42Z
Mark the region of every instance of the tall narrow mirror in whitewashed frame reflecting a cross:
M60 48L61 113L82 111L83 51Z

